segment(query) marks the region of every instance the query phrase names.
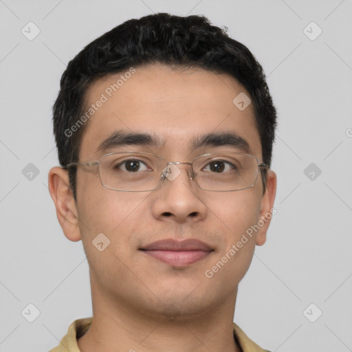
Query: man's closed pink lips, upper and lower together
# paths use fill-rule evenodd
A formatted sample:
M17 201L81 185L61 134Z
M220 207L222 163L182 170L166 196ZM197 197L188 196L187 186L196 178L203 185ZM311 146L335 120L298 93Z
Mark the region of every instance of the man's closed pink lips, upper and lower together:
M214 251L210 245L197 239L184 241L164 239L150 243L140 250L174 267L185 267L196 263Z

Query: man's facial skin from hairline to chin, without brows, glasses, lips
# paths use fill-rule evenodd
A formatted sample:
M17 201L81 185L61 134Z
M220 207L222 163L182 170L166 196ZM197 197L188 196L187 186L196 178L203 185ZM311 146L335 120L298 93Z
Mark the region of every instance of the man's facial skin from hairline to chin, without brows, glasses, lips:
M244 91L234 78L151 65L136 68L109 97L106 89L120 75L99 80L89 89L88 106L102 93L108 100L87 124L80 162L120 150L155 153L168 162L190 162L206 153L241 152L233 146L212 145L192 151L195 138L208 133L240 135L259 162L263 161L252 104L241 111L232 102ZM164 143L162 147L127 145L97 152L99 144L115 131L149 133ZM165 179L157 190L122 192L102 186L98 167L78 168L76 211L97 300L113 300L120 307L149 314L165 311L176 315L196 314L233 300L255 245L265 242L266 228L248 236L211 278L205 272L261 219L263 204L270 208L268 197L263 203L261 173L252 188L212 192L197 188L188 176L189 166L179 166L179 170L178 177ZM92 244L100 233L110 241L102 252ZM197 239L212 251L195 263L177 266L142 250L162 239Z

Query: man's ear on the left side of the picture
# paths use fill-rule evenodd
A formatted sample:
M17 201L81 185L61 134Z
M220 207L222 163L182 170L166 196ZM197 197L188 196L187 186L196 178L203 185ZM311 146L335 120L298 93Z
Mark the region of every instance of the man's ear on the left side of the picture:
M79 241L81 236L78 226L78 212L74 195L69 188L68 171L58 166L51 168L47 183L63 233L70 241Z

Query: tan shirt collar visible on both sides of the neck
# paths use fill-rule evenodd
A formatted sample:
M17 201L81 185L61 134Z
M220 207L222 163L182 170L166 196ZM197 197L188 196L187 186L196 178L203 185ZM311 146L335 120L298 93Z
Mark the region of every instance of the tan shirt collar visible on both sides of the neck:
M58 345L54 349L51 349L49 352L80 352L78 349L77 339L83 336L89 327L91 326L93 318L83 318L75 320L67 331L67 335L64 336ZM234 340L241 347L243 352L270 352L264 349L261 349L256 343L254 343L245 333L233 323L234 331Z

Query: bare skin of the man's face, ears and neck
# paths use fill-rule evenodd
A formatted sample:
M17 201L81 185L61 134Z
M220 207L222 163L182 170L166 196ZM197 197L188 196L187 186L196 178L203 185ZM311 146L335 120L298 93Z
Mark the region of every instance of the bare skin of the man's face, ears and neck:
M94 83L87 102L96 102L118 76ZM225 74L181 72L159 64L138 67L89 120L79 161L97 160L100 142L124 130L156 133L164 146L147 151L172 162L227 149L190 153L188 144L197 134L235 131L262 162L252 104L240 111L232 103L241 91L245 89ZM276 174L269 170L264 195L261 173L252 188L207 192L188 177L188 166L179 168L181 175L166 179L158 190L119 192L102 186L97 167L78 167L77 203L67 171L50 170L58 221L67 239L83 241L89 263L94 320L78 339L80 351L241 351L232 335L237 288L255 246L265 243L270 220L212 278L204 272L273 208ZM111 241L103 252L91 244L100 232ZM138 250L169 238L199 239L214 252L177 268Z

